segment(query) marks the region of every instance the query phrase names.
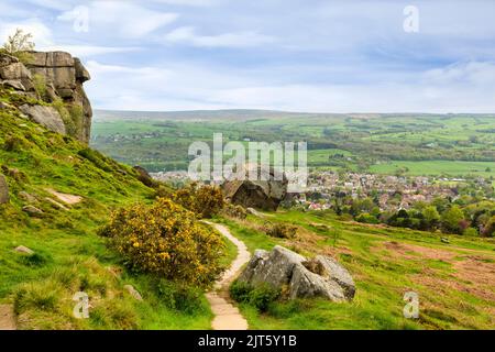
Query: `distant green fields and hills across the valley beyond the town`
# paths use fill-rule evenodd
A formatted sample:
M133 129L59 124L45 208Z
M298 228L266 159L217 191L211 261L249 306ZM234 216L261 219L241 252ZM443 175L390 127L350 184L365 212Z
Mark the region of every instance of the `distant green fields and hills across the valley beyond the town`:
M306 141L319 169L495 176L494 116L97 111L91 145L152 172L187 169L190 143L211 143L213 133L224 143Z

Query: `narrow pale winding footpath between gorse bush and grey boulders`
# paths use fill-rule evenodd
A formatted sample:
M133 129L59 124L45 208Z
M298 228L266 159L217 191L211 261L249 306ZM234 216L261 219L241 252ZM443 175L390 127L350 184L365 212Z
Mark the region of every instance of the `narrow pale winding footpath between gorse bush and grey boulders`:
M229 239L229 241L238 248L238 256L232 262L232 265L223 273L222 277L217 280L213 290L206 295L210 302L211 311L215 314L211 327L213 330L248 330L248 321L242 317L239 308L230 301L229 286L234 280L241 267L249 262L251 254L244 242L233 237L224 226L208 221L205 221L205 223L217 229L217 231Z

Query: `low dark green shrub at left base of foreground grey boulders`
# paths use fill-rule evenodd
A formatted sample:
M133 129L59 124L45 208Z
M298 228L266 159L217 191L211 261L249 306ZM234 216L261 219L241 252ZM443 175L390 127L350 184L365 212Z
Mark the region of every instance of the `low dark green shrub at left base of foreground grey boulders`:
M268 284L252 286L235 280L230 286L230 295L239 302L249 304L260 311L266 311L270 305L280 297L280 290Z

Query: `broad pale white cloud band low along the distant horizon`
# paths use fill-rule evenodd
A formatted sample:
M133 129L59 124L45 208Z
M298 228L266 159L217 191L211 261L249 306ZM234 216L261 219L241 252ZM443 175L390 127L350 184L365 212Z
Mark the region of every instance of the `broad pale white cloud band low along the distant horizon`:
M198 65L163 68L88 63L95 106L124 110L274 109L310 112L493 112L492 63L463 63L374 84L273 84L251 72ZM491 78L484 78L484 74Z

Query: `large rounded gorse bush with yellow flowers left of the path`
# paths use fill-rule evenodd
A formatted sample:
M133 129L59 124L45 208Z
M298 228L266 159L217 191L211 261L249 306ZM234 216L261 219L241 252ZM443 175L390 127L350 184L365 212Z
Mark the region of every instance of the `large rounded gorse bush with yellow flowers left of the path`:
M220 235L206 230L193 212L170 199L121 209L99 233L109 238L110 246L132 268L166 279L206 287L222 271Z

